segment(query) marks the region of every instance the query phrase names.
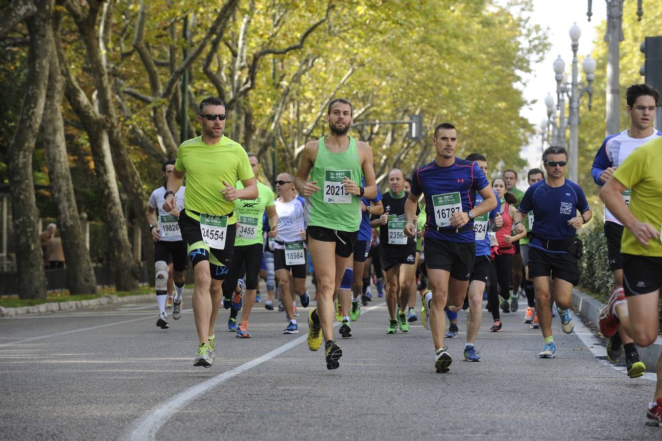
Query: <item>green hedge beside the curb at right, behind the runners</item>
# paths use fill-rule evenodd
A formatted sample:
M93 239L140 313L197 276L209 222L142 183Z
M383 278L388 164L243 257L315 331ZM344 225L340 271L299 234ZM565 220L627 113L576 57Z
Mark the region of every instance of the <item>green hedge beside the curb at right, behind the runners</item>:
M579 230L579 237L584 242L584 256L579 260L579 287L606 302L614 289L614 275L609 270L607 241L602 225L601 219L594 219L590 226Z

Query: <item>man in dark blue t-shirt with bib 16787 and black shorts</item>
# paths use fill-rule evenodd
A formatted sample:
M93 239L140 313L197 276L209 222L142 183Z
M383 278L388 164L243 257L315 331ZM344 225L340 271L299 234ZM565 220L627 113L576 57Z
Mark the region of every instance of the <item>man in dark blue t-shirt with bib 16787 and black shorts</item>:
M414 216L418 197L423 193L427 224L425 264L432 289L430 330L434 341L434 368L448 372L453 359L444 346L446 315L444 307L461 307L467 295L469 277L476 253L474 218L496 207L496 197L485 173L475 162L455 158L457 130L450 123L434 129L432 145L436 158L414 172L411 193L404 207L404 233L416 235ZM483 202L475 205L476 193Z

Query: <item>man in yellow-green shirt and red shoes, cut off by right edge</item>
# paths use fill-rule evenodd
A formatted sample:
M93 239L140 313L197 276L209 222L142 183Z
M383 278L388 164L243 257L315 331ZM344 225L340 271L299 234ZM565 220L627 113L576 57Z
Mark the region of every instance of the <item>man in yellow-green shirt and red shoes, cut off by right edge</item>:
M651 113L655 107L651 106ZM657 339L662 287L662 137L630 153L600 190L607 209L626 227L621 240L623 287L614 289L600 313L600 332L611 337L619 326L638 346ZM622 194L631 188L630 205ZM662 356L657 387L648 405L647 425L662 426Z

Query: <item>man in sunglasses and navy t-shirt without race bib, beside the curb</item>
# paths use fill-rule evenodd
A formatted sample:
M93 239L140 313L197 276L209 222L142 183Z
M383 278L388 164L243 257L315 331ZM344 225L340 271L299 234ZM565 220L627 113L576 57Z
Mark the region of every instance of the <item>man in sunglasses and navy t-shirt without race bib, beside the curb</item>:
M584 191L565 179L568 154L561 146L545 150L542 160L547 170L544 180L534 183L524 193L515 214L515 231L526 231L524 216L533 211L534 222L529 243L529 277L536 290L536 312L545 346L540 358L553 358L556 346L551 334L551 294L549 278L554 280L554 301L561 317L561 328L573 332L575 322L570 315L573 285L579 282L577 229L589 222L592 211ZM577 216L577 211L581 213Z

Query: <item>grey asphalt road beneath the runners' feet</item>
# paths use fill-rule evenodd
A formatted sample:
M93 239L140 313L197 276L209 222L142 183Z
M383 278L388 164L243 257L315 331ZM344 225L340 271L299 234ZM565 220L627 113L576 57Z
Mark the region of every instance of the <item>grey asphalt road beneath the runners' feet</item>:
M354 336L339 342L339 369L326 369L323 348L308 350L307 309L300 334L283 335L283 313L263 303L250 339L226 332L222 311L216 362L194 368L189 305L187 296L168 330L155 326L156 302L0 319L0 439L662 437L662 428L644 425L654 374L630 379L607 366L581 339L591 346L586 328L566 335L558 319L557 358L538 359L542 336L522 323L524 303L502 315L500 333L489 332L483 310L481 363L463 362L460 313L459 337L446 340L449 373L434 372L420 321L406 334L385 334L387 310L376 295L352 324Z

